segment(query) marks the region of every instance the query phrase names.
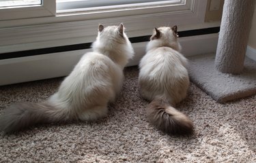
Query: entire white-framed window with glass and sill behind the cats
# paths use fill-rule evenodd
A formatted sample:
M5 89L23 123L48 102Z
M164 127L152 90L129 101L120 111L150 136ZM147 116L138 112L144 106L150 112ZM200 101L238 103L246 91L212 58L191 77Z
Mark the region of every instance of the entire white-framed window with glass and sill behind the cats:
M99 23L106 26L123 22L129 37L151 35L155 26L202 23L206 3L205 0L57 0L57 14L53 0L41 0L39 5L1 7L0 55L89 43L94 41Z

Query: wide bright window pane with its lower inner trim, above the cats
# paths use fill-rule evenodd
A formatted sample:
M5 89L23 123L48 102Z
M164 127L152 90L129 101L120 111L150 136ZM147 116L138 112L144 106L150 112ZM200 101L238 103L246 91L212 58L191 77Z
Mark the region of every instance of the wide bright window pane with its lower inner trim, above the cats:
M57 0L57 13L83 13L89 16L87 18L132 16L184 10L191 1L193 0Z

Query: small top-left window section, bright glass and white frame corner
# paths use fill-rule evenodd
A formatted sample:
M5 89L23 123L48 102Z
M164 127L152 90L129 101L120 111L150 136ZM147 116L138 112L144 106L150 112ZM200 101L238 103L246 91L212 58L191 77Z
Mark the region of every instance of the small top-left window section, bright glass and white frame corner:
M0 20L54 16L55 6L53 0L1 0Z

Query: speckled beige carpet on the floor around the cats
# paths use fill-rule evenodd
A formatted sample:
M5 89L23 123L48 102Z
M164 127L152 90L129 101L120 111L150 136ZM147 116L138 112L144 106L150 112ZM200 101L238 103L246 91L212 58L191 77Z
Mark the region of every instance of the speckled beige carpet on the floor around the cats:
M191 84L179 109L195 123L195 134L174 137L147 123L137 67L125 74L122 94L108 117L0 137L0 162L256 162L256 96L221 104ZM0 87L0 110L19 101L44 100L61 79Z

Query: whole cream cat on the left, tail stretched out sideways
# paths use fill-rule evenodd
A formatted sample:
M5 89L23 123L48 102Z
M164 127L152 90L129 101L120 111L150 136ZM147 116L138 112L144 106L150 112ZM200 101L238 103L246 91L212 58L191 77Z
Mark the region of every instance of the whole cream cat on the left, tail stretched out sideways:
M122 88L123 69L134 51L124 25L99 25L93 52L84 54L59 90L42 103L11 105L0 115L4 134L34 124L72 120L98 120Z

